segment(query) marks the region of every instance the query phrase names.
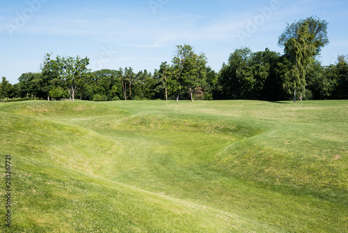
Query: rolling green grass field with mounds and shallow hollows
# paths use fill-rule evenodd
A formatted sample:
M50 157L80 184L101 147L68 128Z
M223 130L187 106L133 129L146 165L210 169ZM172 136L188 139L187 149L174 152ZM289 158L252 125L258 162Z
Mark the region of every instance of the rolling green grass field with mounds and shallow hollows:
M0 119L1 232L348 232L348 100L27 101Z

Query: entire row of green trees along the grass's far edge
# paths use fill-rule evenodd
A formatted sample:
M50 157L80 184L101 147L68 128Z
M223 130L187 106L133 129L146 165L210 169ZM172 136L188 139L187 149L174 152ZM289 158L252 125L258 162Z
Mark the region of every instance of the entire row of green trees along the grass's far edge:
M155 72L131 67L88 69L86 57L46 54L40 73L24 73L17 84L3 77L0 98L59 100L309 100L348 98L348 57L322 66L317 57L329 43L327 22L317 17L287 24L278 38L283 54L268 48L252 52L241 47L216 73L204 53L191 45L177 45L171 63Z

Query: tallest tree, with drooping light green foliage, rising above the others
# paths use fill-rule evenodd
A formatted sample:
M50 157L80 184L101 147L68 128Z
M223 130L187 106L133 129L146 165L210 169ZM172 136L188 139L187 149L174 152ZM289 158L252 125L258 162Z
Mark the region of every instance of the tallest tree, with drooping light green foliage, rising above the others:
M329 43L327 22L319 18L308 17L291 25L279 36L278 45L284 47L285 57L290 66L285 73L283 87L288 93L296 93L303 98L306 89L306 72L322 47Z

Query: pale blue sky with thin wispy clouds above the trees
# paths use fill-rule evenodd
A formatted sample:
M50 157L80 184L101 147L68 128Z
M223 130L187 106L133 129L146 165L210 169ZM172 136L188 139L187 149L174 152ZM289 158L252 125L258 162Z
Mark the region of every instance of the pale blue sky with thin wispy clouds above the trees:
M347 0L16 0L0 6L0 75L12 84L22 73L40 72L50 52L88 57L92 70L130 66L153 73L184 44L205 53L217 72L243 46L283 53L277 43L286 23L312 15L329 22L322 64L348 54Z

